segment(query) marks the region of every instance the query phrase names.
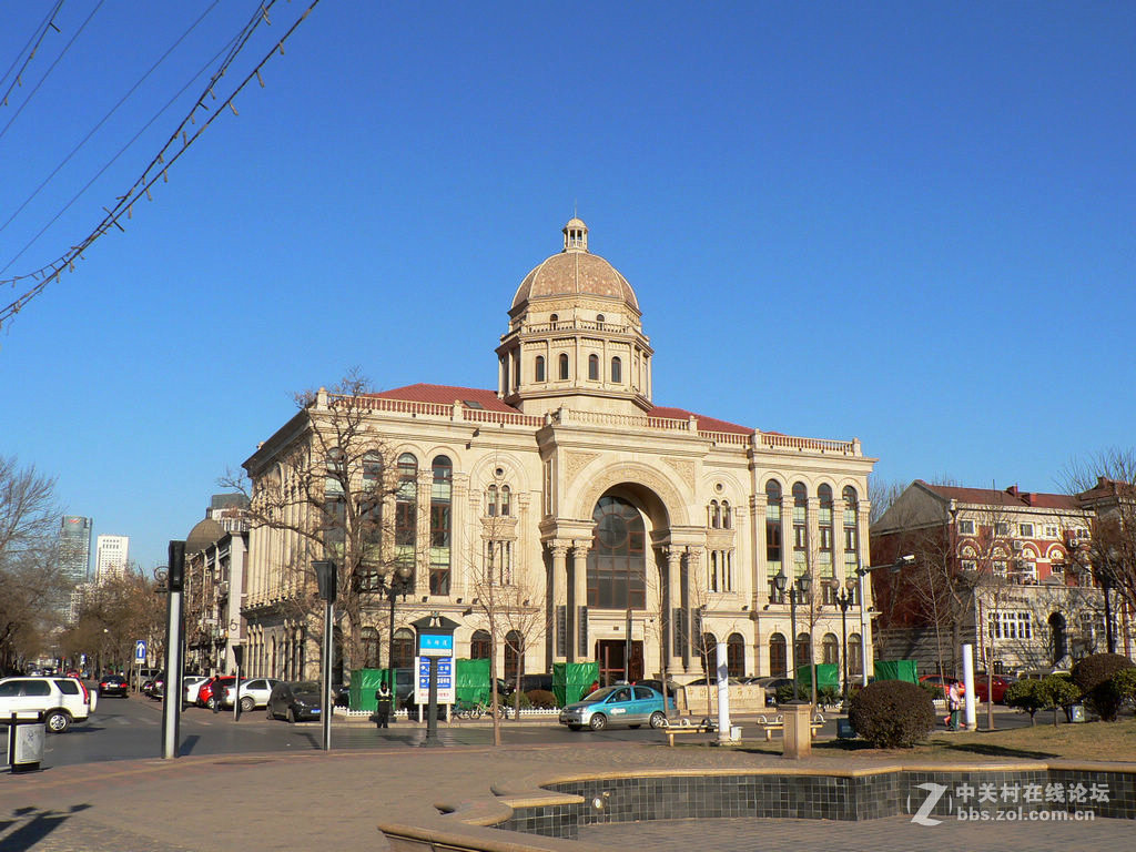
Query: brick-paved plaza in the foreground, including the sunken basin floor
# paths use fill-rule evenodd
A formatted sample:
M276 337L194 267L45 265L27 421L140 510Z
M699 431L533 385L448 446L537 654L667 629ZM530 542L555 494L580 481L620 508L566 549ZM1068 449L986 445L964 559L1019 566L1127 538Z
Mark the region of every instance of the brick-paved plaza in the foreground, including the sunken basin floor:
M492 799L492 787L525 788L533 779L574 770L660 768L751 768L785 766L778 757L729 749L665 744L459 746L325 754L241 754L137 760L49 768L31 776L0 774L0 849L5 852L194 852L241 849L383 850L381 821L453 826L436 805L454 808ZM794 763L792 766L801 766ZM847 760L817 758L809 768L846 769ZM866 763L867 766L867 763ZM699 846L749 851L782 847L767 838L808 837L801 845L870 847L876 852L959 845L952 826L926 828L902 818L876 822L745 820L740 826L699 822L683 835L670 822L586 829L577 845L595 849L603 832L634 830L666 850ZM755 825L760 824L760 825ZM1060 827L1066 829L1064 826ZM1072 837L1096 850L1129 850L1136 826L1097 820L1069 826ZM1081 832L1084 829L1084 833ZM758 843L753 832L760 830ZM593 834L594 832L594 834ZM1052 825L991 826L966 847L1041 850L1055 847ZM226 842L224 838L232 838ZM685 837L685 840L684 840ZM503 834L516 843L543 843L531 835ZM862 843L860 841L863 841ZM563 847L563 842L551 845ZM571 844L569 844L571 845ZM783 844L784 845L784 844ZM1074 847L1088 843L1076 842ZM787 849L788 846L785 845ZM1062 844L1062 849L1068 846Z

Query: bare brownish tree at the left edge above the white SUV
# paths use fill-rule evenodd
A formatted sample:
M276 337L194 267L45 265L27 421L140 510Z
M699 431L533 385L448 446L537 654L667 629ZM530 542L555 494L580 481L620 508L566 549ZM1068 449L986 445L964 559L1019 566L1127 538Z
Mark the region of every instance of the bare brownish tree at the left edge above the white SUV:
M0 668L41 650L59 620L55 481L0 456Z

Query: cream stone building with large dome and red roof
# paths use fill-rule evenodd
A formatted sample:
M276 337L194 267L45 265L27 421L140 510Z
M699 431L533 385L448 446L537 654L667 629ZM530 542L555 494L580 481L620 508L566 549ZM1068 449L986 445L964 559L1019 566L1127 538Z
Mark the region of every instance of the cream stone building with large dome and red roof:
M314 675L318 619L294 602L326 556L349 575L351 667L410 665L432 612L458 623L458 657L509 676L594 660L603 682L690 682L719 643L734 676L792 675L794 646L844 662L836 600L867 559L874 459L657 406L635 291L580 219L562 234L513 294L494 390L321 390L244 463L253 675ZM854 674L870 623L858 601L845 615Z

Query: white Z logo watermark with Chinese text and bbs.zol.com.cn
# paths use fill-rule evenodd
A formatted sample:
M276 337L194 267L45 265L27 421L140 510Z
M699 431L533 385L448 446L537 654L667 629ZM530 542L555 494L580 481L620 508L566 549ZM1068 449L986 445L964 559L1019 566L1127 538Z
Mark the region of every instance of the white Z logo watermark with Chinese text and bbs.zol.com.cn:
M912 815L911 821L920 826L937 826L943 819L951 817L960 822L1089 821L1096 818L1096 812L1091 807L1068 805L1092 805L1109 801L1108 784L1089 784L1086 787L1080 782L1076 784L980 782L977 785L959 784L954 787L927 782L917 784L914 790L926 793L921 803L918 794L914 792L908 794L908 813ZM938 808L944 796L945 810ZM936 812L936 808L942 818L932 816Z

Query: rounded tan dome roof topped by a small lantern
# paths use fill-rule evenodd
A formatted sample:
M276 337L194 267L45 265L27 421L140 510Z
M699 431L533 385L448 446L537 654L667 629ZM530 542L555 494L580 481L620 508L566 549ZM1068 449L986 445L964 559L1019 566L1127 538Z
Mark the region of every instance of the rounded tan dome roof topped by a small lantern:
M587 250L587 225L573 217L563 226L563 235L561 252L544 260L520 282L513 309L535 299L591 295L619 300L638 314L638 300L627 278Z

